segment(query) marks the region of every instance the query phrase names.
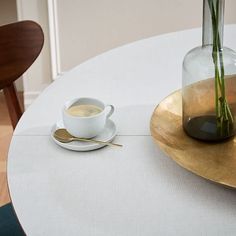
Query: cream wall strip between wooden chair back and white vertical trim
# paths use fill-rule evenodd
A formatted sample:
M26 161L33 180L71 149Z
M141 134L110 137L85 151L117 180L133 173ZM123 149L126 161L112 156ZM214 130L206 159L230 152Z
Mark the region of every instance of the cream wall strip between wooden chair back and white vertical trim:
M17 0L17 12L19 20L36 21L44 31L42 52L23 76L25 107L28 107L52 82L47 0Z

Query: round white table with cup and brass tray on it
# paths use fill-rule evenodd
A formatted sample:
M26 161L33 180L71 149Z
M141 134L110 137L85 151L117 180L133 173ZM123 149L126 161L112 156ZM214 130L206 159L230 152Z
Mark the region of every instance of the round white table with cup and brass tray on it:
M236 49L236 25L225 45ZM236 192L174 163L154 144L155 106L181 87L201 30L141 40L99 55L52 83L25 112L10 145L11 199L27 235L236 235ZM123 148L74 152L51 127L75 97L114 104Z

